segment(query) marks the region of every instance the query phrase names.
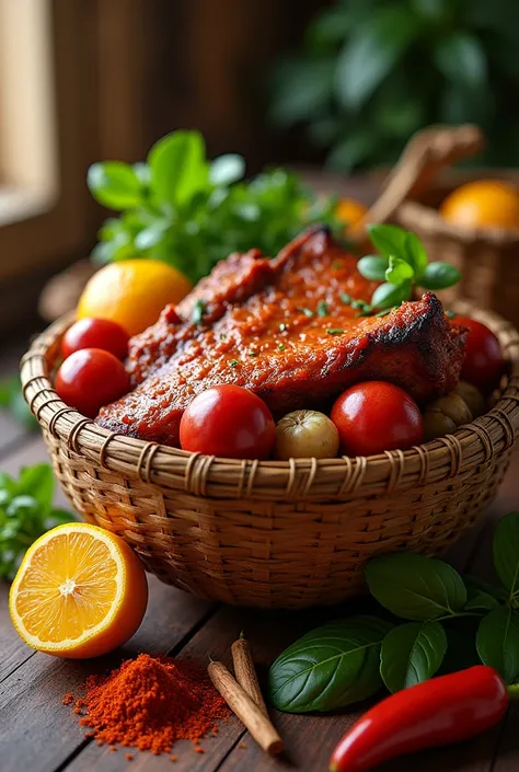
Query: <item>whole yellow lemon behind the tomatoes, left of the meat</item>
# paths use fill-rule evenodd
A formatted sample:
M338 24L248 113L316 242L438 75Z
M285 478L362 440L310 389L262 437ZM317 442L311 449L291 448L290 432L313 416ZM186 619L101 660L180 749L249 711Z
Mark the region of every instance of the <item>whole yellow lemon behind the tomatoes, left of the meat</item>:
M78 304L78 319L111 319L129 335L157 322L168 303L178 303L192 289L189 279L157 260L111 263L92 276Z

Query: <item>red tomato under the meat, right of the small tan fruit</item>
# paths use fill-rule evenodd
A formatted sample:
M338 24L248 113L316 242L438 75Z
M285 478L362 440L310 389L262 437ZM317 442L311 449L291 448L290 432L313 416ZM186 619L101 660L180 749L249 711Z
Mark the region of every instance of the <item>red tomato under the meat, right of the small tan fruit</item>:
M373 456L419 445L422 414L408 394L385 381L366 381L336 400L331 418L346 456Z

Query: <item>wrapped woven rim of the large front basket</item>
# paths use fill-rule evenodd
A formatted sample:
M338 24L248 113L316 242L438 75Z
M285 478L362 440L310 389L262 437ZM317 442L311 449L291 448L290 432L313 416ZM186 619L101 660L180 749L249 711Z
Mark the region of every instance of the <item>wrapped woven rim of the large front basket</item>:
M510 449L519 436L519 332L498 314L466 301L452 303L458 313L484 322L499 338L509 366L508 382L495 406L471 424L408 450L369 457L249 461L171 448L97 426L66 405L49 380L49 361L74 320L57 320L32 343L21 360L23 395L41 427L67 453L90 459L93 466L140 479L161 488L196 496L257 500L344 500L392 494L449 476L469 474L494 454Z

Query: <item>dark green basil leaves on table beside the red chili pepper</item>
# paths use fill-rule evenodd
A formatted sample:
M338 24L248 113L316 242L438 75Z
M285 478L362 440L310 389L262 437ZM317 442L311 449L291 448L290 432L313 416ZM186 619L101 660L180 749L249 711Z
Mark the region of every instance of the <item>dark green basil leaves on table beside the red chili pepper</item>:
M289 713L338 710L382 685L396 692L478 661L516 683L519 512L499 522L493 552L499 586L413 553L370 561L366 578L377 614L332 622L289 646L270 668L272 704Z

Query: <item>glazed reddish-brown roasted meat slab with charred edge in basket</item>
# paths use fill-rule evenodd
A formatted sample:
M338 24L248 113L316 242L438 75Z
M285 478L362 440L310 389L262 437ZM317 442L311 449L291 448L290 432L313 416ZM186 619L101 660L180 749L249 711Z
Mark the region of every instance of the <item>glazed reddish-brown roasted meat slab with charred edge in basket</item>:
M327 410L348 385L388 380L419 403L451 390L464 333L427 292L385 316L359 316L377 286L357 258L313 229L276 258L231 255L176 308L130 341L134 391L103 407L113 431L178 445L182 414L196 394L235 383L258 394L276 417Z

